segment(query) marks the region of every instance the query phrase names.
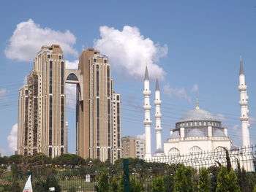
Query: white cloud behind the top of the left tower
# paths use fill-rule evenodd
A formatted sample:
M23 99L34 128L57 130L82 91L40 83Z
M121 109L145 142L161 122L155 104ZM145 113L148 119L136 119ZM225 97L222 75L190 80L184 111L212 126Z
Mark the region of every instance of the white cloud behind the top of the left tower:
M29 19L18 23L4 53L10 59L33 61L42 45L58 44L65 54L77 56L77 50L73 47L75 41L75 35L69 30L61 32L51 28L41 28L39 24Z

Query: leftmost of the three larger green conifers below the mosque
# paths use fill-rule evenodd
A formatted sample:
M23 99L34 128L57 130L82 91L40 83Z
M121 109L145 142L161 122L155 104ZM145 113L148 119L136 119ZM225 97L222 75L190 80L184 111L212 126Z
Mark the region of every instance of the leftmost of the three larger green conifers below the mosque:
M174 177L174 192L192 192L193 186L191 167L178 166Z

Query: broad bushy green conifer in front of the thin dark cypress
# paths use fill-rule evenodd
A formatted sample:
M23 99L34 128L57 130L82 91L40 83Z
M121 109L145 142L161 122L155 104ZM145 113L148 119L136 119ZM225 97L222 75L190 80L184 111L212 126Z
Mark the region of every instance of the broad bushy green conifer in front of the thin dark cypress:
M220 168L216 192L240 192L236 174L232 169L227 172L225 166Z

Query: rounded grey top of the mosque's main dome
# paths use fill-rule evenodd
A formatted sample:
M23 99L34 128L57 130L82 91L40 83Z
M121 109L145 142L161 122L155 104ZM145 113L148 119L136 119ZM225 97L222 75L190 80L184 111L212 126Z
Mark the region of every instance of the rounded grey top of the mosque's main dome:
M182 117L181 121L189 121L189 120L216 120L214 115L211 112L195 109L186 112Z

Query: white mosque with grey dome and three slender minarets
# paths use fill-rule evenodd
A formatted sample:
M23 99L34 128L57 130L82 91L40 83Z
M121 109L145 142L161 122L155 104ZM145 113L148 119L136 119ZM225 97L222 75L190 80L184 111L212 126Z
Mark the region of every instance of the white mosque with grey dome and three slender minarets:
M246 83L242 59L240 59L239 85L240 110L241 110L241 132L243 146L249 146L249 122L248 122L248 96L246 93ZM156 132L156 152L151 153L151 118L150 118L150 96L148 69L146 67L144 78L144 111L145 111L145 135L146 135L146 155L145 159L173 156L184 154L203 153L204 151L218 151L225 147L232 149L232 140L228 137L227 127L222 126L222 122L216 116L197 106L194 110L186 112L176 123L176 127L170 130L170 138L164 142L162 148L162 125L161 125L161 99L159 82L156 82L155 89L155 124Z

